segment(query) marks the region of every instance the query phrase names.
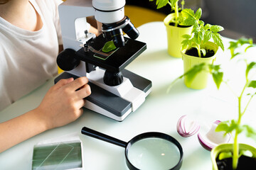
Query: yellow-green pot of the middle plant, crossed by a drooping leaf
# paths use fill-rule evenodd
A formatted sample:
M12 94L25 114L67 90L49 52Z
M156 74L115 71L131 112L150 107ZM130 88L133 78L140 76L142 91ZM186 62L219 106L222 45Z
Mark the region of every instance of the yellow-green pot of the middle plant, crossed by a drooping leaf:
M218 51L218 45L215 45L215 43L213 42L206 42L206 45L204 45L203 48L213 50L215 54ZM181 51L184 73L188 72L188 70L190 70L195 65L201 64L203 62L206 64L213 64L216 59L216 55L213 55L212 57L202 58L186 55L185 52L186 50ZM185 76L184 84L191 89L205 89L208 84L209 75L209 72L199 72L198 74L196 74L196 77L192 81L188 81L187 77Z

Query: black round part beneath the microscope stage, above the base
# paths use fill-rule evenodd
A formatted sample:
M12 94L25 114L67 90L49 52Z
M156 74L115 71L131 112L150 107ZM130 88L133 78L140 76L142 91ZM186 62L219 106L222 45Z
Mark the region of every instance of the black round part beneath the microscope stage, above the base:
M103 81L108 86L117 86L119 84L122 84L122 81L124 80L122 76L122 72L108 72L105 71Z

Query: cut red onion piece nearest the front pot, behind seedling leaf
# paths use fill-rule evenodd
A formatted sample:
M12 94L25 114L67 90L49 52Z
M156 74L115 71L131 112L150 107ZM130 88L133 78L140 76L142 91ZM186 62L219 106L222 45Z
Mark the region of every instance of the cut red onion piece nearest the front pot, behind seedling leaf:
M213 147L220 145L222 143L228 143L230 141L231 135L228 133L224 136L224 132L215 132L216 127L220 123L219 120L216 120L212 123L210 130L206 132L202 130L202 132L198 132L198 140L203 148L211 151Z

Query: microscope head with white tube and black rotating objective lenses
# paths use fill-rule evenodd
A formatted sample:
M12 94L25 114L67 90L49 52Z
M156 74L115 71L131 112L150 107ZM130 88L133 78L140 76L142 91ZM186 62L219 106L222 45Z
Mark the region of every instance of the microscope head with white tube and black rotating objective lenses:
M139 36L139 31L124 16L124 5L125 0L92 0L95 19L102 23L102 35L113 40L116 47L125 45L123 31L133 40Z

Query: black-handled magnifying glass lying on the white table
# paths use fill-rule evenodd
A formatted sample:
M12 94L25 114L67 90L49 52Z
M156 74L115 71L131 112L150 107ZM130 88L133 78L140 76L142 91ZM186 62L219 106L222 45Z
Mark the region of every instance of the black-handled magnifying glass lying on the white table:
M124 142L86 127L82 128L81 132L124 147L126 163L131 170L178 170L181 168L183 149L174 137L164 133L145 132L133 137L129 142Z

